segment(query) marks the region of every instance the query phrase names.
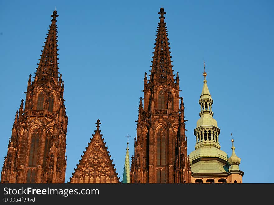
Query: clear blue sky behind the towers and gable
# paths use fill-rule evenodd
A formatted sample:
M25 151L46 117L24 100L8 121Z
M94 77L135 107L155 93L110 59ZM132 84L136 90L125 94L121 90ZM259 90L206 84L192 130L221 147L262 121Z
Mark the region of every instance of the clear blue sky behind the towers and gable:
M1 1L1 164L55 6L59 72L69 117L65 182L94 134L97 119L122 179L125 136L131 136L131 156L144 72L152 65L163 6L188 120L188 154L195 146L205 60L221 149L231 155L233 133L243 183L274 183L273 1Z

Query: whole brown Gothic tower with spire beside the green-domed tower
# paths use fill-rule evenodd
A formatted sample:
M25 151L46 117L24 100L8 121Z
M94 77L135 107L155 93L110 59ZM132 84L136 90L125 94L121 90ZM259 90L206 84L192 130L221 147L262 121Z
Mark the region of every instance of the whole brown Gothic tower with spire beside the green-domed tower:
M174 79L164 8L158 14L150 79L145 73L139 102L130 183L191 183L179 75Z

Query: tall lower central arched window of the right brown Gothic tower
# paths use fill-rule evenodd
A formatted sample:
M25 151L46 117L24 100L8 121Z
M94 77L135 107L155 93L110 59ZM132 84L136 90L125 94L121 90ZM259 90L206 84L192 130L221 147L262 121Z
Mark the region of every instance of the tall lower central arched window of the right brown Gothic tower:
M157 165L165 165L165 138L166 131L161 126L157 133Z

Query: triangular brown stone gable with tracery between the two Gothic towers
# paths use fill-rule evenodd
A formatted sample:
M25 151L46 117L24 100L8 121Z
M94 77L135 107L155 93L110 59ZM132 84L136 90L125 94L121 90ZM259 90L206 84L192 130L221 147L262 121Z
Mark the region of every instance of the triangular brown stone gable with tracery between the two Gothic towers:
M115 164L112 163L99 129L100 120L97 120L96 124L95 134L92 134L90 142L87 143L88 147L83 152L84 155L81 155L69 183L120 183Z

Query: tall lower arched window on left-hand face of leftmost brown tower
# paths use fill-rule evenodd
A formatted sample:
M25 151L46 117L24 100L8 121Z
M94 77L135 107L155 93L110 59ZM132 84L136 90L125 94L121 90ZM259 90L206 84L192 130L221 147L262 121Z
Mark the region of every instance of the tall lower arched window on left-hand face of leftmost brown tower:
M36 166L39 144L39 129L35 128L31 134L31 149L29 155L29 166Z

